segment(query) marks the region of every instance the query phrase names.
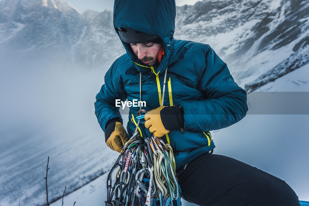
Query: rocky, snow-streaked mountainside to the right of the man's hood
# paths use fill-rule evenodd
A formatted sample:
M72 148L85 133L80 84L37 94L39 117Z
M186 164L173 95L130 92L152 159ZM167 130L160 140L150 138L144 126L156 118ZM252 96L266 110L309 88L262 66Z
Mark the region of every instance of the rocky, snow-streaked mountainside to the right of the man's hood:
M251 92L308 62L308 20L308 0L204 0L177 8L175 37L209 44Z

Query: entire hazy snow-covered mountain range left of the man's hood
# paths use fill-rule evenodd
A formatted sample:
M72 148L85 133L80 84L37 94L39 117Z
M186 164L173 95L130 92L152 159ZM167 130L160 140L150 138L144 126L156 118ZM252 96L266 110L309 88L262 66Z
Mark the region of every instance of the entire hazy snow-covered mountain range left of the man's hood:
M48 58L82 68L107 68L125 53L112 11L80 14L62 0L0 1L0 50L2 57Z

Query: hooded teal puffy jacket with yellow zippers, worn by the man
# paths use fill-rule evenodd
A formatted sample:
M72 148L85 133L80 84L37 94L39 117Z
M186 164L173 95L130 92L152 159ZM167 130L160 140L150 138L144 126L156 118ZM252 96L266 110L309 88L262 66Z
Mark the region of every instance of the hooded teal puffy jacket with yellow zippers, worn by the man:
M176 168L214 149L211 130L228 127L240 121L248 110L246 92L232 78L224 63L209 45L173 38L176 6L171 0L116 0L114 27L132 28L158 35L165 55L158 66L146 67L138 61L129 44L122 42L127 53L116 59L107 71L104 85L96 96L95 114L105 131L113 118L122 122L115 100L140 98L147 111L161 105L164 73L167 69L165 106L179 104L184 108L184 131L174 130L162 139L174 150ZM116 30L116 29L115 29ZM117 32L117 30L116 30ZM130 107L127 132L136 128L139 107ZM152 134L143 124L142 137Z

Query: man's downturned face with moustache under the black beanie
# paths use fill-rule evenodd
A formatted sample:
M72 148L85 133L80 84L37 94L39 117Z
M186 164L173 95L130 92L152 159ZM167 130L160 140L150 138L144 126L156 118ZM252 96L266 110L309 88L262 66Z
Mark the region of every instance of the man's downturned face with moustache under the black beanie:
M158 62L159 50L162 44L145 42L140 44L130 44L134 54L143 64L148 67L154 66Z

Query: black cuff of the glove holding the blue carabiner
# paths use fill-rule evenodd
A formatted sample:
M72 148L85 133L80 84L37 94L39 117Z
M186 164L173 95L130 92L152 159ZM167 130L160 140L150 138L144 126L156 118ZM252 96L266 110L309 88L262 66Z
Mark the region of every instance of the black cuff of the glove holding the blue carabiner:
M184 127L184 110L180 105L164 107L160 116L164 128L168 131Z

